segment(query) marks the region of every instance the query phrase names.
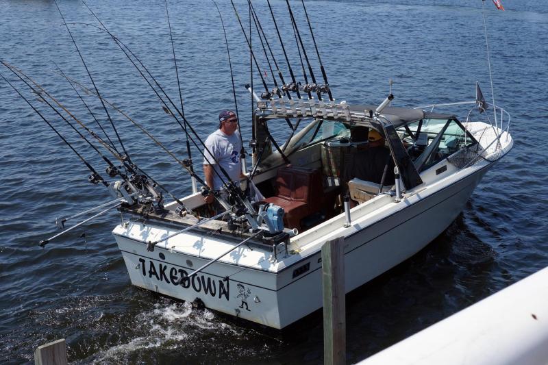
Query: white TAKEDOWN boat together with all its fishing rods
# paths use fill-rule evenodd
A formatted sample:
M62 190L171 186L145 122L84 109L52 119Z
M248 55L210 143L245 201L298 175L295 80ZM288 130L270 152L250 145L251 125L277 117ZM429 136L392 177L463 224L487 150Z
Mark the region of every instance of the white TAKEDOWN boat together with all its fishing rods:
M289 2L287 5L297 38L297 22ZM249 7L251 12L251 3ZM254 10L251 13L255 14ZM165 92L160 95L163 90L147 68L99 18L97 21L101 23L99 28L110 35L149 82L164 111L184 127L187 138L201 142L197 147L202 148L201 138L184 113ZM260 23L256 27L260 34ZM243 26L242 31L245 35ZM282 38L277 34L283 49ZM314 40L312 27L310 34ZM305 47L300 44L304 53ZM254 58L250 42L248 45ZM266 55L264 45L263 49ZM81 135L107 162L108 175L118 179L112 183L105 181L0 74L86 164L92 172L89 181L102 183L115 197L114 201L94 209L104 208L103 211L49 240L42 240L40 246L92 218L118 209L121 223L112 234L134 286L275 329L287 327L322 307L321 249L325 242L344 242L345 292L355 290L419 252L455 220L479 181L512 149L510 114L495 106L494 101L486 103L479 85L474 100L417 108L393 106L391 92L379 105L336 100L319 53L318 58L323 85L316 83L310 64L312 82L306 80L305 73L305 84L299 84L288 61L292 77L289 84L279 73L282 84L276 84L270 91L260 73L266 91L258 96L248 87L256 107L249 143L252 168L246 171L246 164L242 164L242 172L247 176L243 181L230 181L221 174L225 185L221 192L214 192L222 207L220 211L212 210L203 199L212 191L207 187L198 190L195 184L186 197L169 193L173 201L166 203L162 190L167 190L129 159L120 139L123 153L112 141L108 143L92 132L22 71L2 61L25 82L32 95L38 95L40 102L55 111L62 108L121 162L115 166ZM82 62L85 66L83 58ZM94 91L72 79L69 81L84 88L87 95L100 99L105 112L106 105L121 112L101 97L95 83ZM464 110L460 112L461 119L456 113L447 112L450 108ZM493 121L488 117L490 110ZM193 183L199 180L190 159L179 160L142 125L122 114L186 168ZM75 129L68 117L62 118ZM111 125L116 131L112 120ZM373 131L384 138L384 148L390 156L384 164L382 179L349 177L349 166L360 162L363 157L360 151L370 148L368 136ZM393 181L390 181L387 177L392 170ZM203 180L201 183L206 185ZM69 219L92 211L64 218L58 221L58 226L64 228Z

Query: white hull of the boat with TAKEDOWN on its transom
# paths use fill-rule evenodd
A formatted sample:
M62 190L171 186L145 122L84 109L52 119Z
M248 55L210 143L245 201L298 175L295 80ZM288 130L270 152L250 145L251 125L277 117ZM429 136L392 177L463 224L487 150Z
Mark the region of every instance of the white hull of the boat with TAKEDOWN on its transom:
M421 197L418 193L414 202L404 199L397 203L399 210L393 214L377 221L357 223L353 230L347 230L346 292L407 260L432 242L462 211L491 165L475 168L469 175L428 196ZM267 265L256 269L215 262L192 280L177 284L181 277L206 264L211 257L186 255L162 247L149 252L146 234L142 234L142 239L135 239L130 238L127 231L146 232L151 226L128 224L130 227L120 225L113 233L135 286L184 301L200 299L212 310L277 329L322 307L320 249L276 271L269 270Z

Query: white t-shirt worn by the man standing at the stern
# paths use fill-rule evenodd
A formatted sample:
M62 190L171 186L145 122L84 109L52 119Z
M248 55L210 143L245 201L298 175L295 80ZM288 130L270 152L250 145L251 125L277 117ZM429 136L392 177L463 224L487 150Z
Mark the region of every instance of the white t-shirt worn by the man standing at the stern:
M228 173L230 179L239 185L240 173L242 171L240 163L240 151L242 149L242 143L240 142L240 132L235 131L231 136L227 136L217 129L206 139L206 149L203 151L205 158L203 159L204 165L213 165L216 172L213 173L213 189L221 190L223 184L226 182L226 176L221 172L221 168L217 165L223 166ZM208 153L212 153L213 158ZM219 176L220 175L220 176Z

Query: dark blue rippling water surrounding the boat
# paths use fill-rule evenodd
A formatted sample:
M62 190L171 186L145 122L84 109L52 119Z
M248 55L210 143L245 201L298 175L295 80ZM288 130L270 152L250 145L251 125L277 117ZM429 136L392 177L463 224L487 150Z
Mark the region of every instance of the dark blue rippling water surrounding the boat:
M272 2L285 39L290 25L282 16L284 3ZM514 149L486 175L464 212L432 244L349 296L348 362L358 362L548 264L548 13L540 0L503 4L506 12L485 2L495 97L512 114ZM245 20L245 1L236 5ZM481 1L307 5L336 98L380 103L391 78L395 105L468 100L474 96L476 80L491 99ZM164 3L94 1L90 6L178 100ZM170 1L169 6L186 116L205 138L216 128L219 110L232 108L233 103L219 15L208 2ZM162 112L145 81L108 36L84 25L95 24L84 5L62 1L60 7L67 23L77 23L70 25L71 31L103 96L184 156L179 126ZM229 3L220 7L242 131L249 138L251 107L242 88L249 82L249 54ZM256 8L264 27L271 29L271 43L284 66L266 7L256 1ZM302 15L298 3L295 12ZM0 58L35 78L97 129L69 84L52 72L58 64L90 86L55 4L0 0L0 19ZM306 23L301 32L306 33ZM257 38L254 41L257 45ZM308 36L305 41L317 65ZM300 75L295 58L292 64ZM5 68L0 72L10 74ZM255 83L260 84L258 77ZM104 164L97 156L44 105L36 104L102 172ZM99 103L92 105L104 122ZM55 233L55 218L107 201L108 194L86 182L83 164L3 81L0 115L1 363L32 362L36 347L58 338L66 338L69 360L82 364L323 362L319 313L279 332L207 310L197 312L186 303L132 287L110 234L119 221L114 213L45 249L38 247L39 240ZM123 118L112 115L127 151L143 169L174 194L190 191L186 175L173 160ZM112 129L108 131L114 138ZM84 231L85 240L79 238Z

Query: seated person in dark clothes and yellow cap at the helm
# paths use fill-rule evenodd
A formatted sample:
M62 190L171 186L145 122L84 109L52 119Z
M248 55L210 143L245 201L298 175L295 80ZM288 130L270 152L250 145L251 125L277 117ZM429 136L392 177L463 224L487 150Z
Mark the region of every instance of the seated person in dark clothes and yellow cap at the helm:
M384 147L384 138L375 129L369 129L367 139L369 140L369 148L357 151L352 155L352 160L345 168L344 181L348 182L357 177L375 184L381 184L384 167L388 164L383 186L393 186L395 184L394 161L390 155L390 150Z

